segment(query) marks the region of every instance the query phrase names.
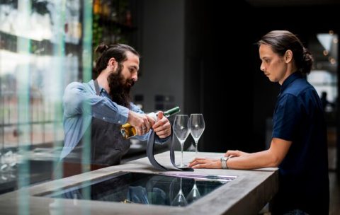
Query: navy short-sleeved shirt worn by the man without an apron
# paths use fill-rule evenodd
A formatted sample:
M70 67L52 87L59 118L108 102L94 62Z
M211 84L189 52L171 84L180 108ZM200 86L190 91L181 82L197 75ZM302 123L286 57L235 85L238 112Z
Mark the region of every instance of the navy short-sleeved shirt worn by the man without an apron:
M273 115L273 138L292 141L279 165L280 187L273 212L301 209L328 214L327 133L322 103L300 72L283 82Z

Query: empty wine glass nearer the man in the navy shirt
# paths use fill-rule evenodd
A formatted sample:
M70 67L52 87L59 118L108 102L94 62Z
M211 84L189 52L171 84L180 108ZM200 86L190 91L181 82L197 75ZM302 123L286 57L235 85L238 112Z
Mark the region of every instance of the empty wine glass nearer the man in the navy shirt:
M191 136L193 136L193 140L195 140L196 144L196 157L198 154L197 144L200 136L203 134L205 129L205 122L203 119L203 115L201 113L193 113L190 115L188 127L191 132Z

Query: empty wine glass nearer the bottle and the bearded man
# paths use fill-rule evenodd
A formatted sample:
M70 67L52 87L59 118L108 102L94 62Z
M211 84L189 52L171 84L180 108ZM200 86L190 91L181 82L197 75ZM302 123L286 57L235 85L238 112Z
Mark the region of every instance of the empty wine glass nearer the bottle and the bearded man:
M174 133L179 139L179 143L181 144L181 165L180 168L186 167L183 164L183 146L186 138L189 136L190 129L188 128L188 115L176 115L174 120Z

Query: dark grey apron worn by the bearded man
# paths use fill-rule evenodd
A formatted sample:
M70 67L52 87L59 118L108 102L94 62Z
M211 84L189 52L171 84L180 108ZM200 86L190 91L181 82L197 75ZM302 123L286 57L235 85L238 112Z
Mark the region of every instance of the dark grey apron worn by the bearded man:
M96 94L100 95L97 80L94 81L94 86ZM84 136L91 136L89 143L91 144L90 158L87 161L82 158L83 150L89 147L86 146L83 136L71 153L63 158L63 176L68 177L87 170L96 170L120 164L122 156L130 149L130 140L123 138L120 133L120 127L120 124L112 124L92 117L91 124L84 134Z

